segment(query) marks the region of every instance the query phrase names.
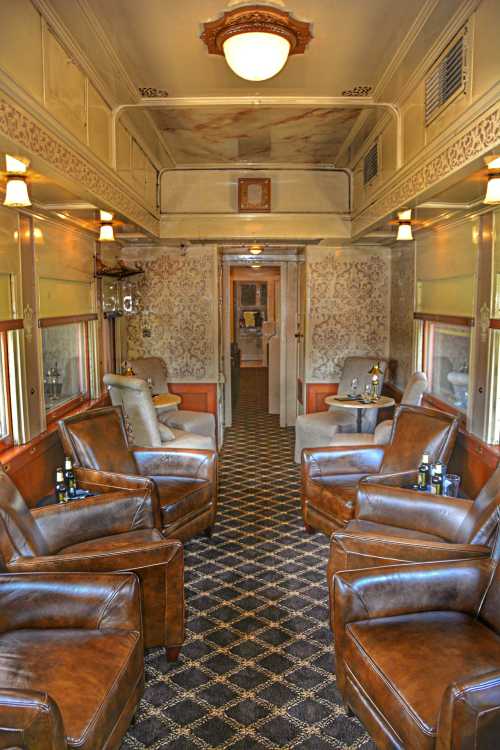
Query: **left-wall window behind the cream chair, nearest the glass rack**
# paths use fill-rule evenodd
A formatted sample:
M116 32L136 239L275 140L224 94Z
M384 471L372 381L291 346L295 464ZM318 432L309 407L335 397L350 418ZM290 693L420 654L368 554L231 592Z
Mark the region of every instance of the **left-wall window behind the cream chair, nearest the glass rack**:
M93 318L89 315L40 321L43 391L49 421L90 399Z

